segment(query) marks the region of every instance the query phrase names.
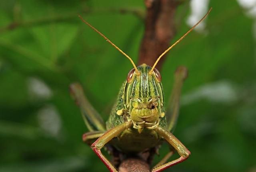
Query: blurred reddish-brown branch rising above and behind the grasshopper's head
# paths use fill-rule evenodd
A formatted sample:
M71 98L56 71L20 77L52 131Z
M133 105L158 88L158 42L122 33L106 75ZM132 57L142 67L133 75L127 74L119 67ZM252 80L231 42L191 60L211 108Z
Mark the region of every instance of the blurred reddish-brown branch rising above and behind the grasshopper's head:
M145 33L140 45L138 65L146 63L153 66L156 59L170 46L174 37L174 14L181 1L145 0L147 12ZM164 57L156 66L161 68Z

